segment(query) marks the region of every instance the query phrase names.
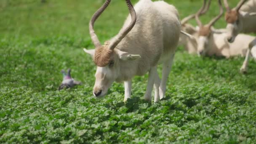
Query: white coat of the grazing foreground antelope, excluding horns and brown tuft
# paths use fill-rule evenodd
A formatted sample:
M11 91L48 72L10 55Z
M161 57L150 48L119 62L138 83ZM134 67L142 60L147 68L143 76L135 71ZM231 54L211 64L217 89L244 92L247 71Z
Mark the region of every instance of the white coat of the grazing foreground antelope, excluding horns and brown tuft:
M99 89L104 91L99 96L101 97L107 93L113 81L125 81L124 101L126 101L131 96L131 79L135 75L145 75L149 72L145 99L151 101L152 88L155 84L154 101L157 102L158 97L162 99L165 95L167 78L178 45L181 30L179 14L173 5L164 1L140 0L134 9L137 15L136 24L114 49L115 65L97 67L93 91L99 91ZM125 29L130 21L129 15L121 30ZM85 52L94 54L86 49ZM162 63L164 68L162 80L160 80L157 65ZM104 75L107 76L102 78ZM104 83L110 83L110 85L103 85Z

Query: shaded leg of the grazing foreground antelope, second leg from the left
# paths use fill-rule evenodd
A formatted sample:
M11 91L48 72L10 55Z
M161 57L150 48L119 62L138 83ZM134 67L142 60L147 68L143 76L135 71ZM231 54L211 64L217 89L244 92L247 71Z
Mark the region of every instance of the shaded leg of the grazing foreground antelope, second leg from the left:
M155 82L155 75L157 75L157 66L152 67L149 70L149 77L148 77L148 81L147 81L147 90L145 93L145 100L146 101L151 101L152 99L152 89L153 89L153 85Z

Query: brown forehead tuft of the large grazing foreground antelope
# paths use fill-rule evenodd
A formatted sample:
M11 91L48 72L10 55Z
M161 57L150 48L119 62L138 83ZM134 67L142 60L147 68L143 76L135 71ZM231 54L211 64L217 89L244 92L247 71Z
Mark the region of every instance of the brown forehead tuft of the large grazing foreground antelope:
M98 67L105 67L109 64L109 61L112 59L113 50L108 48L109 42L104 43L99 48L96 48L94 54L94 63Z

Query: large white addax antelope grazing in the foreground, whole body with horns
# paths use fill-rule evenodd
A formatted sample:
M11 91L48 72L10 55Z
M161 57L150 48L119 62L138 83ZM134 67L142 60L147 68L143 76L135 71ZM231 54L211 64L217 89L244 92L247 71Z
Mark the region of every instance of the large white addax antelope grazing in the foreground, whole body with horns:
M166 82L179 41L181 24L178 11L164 1L140 0L133 8L130 0L126 0L131 16L128 16L115 37L101 45L93 30L93 24L110 1L106 0L94 13L89 24L96 49L84 49L97 65L93 95L102 97L114 81L124 81L126 101L131 97L132 78L149 72L145 99L151 101L155 84L154 101L157 102L165 95ZM162 80L157 74L157 65L161 63Z

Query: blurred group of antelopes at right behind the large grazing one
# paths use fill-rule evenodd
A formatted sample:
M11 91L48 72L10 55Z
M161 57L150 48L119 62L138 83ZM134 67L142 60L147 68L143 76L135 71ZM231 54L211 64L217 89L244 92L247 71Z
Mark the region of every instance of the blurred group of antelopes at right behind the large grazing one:
M211 4L208 0L203 2L203 7L196 14L181 20L181 29L192 35L193 38L181 35L179 45L183 45L189 53L197 53L200 56L245 56L241 72L247 71L250 54L256 59L256 39L251 35L240 34L240 32L256 32L256 0L240 0L235 8L230 10L227 0L224 0L226 8L226 29L214 29L212 25L222 15L221 1L218 0L220 14L208 24L202 25L199 16L206 13ZM187 24L187 21L195 18L198 27Z

